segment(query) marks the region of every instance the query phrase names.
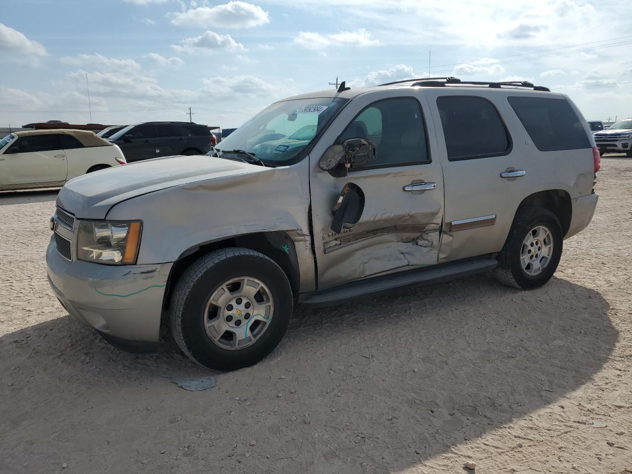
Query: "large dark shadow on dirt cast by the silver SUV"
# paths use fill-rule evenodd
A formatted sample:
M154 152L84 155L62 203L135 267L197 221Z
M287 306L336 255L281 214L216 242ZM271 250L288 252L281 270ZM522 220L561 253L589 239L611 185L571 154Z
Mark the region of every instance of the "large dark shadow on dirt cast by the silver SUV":
M298 308L272 355L217 374L205 392L162 378L209 374L173 343L158 355L129 355L60 317L0 337L0 367L11 380L0 397L13 405L10 413L3 406L12 434L5 451L18 465L40 443L55 457L92 433L95 446L107 439L117 453L94 458L112 472L134 471L140 459L147 471L167 471L157 449L175 456L187 440L191 455L179 468L188 472L209 459L216 472L403 470L589 382L617 340L608 311L599 293L561 278L517 291L487 276ZM59 385L59 397L32 396ZM23 413L46 416L34 424ZM50 437L60 429L66 434ZM85 453L73 456L89 464Z

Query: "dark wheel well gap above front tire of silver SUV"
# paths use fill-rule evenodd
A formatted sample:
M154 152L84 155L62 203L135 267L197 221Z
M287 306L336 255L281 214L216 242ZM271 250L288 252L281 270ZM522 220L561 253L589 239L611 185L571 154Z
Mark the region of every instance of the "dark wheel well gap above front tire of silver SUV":
M163 308L167 309L171 301L173 288L179 277L195 260L206 253L220 248L241 247L260 252L271 258L286 274L295 299L300 289L300 269L296 247L288 233L283 231L258 232L223 238L212 242L192 246L182 252L171 267L167 288L164 293Z

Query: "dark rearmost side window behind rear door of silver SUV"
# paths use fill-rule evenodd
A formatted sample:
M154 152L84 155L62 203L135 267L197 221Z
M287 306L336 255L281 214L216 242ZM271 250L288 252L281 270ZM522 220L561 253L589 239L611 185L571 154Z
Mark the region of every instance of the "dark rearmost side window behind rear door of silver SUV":
M566 99L509 97L509 104L541 152L590 148L583 121Z

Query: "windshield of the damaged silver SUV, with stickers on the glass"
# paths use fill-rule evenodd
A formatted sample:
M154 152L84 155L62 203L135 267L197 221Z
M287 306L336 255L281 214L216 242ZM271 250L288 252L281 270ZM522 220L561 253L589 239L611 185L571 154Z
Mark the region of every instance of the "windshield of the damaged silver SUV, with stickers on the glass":
M276 102L224 138L217 150L226 154L245 150L266 164L292 164L348 100L322 97Z

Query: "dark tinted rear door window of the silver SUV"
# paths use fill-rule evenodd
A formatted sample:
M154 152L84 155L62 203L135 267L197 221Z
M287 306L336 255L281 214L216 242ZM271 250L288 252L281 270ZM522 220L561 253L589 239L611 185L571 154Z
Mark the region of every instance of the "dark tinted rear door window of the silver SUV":
M437 98L450 161L501 156L511 139L496 107L483 97L446 95Z

